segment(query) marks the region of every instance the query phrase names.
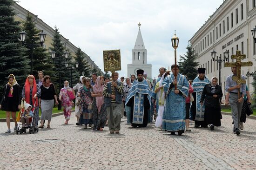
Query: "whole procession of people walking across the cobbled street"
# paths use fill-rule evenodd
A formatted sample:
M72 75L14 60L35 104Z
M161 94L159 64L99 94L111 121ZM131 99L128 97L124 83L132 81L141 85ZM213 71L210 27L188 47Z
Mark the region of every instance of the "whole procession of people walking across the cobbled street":
M233 131L239 135L246 120L246 104L250 103L250 95L245 84L237 85L232 79L236 76L236 67L231 70L232 74L226 80L225 104L231 106ZM73 88L65 81L59 95L51 78L44 76L43 72L38 72L37 80L33 75L27 76L22 90L14 75L10 74L0 102L0 108L7 115L6 133L11 132L10 115L15 123L14 131L17 130L16 112L20 110L21 98L27 103L27 113L21 118L22 126L27 126L32 111L35 126L38 126L41 110L39 128L45 127L45 120L46 127L50 128L54 104L59 102L63 107L64 124L68 124L75 106L76 125L91 127L95 131L103 131L108 126L111 134L120 133L123 116L133 128L146 127L154 118L156 128L172 135L191 131L189 120L195 121L195 128L209 126L210 130L214 130L215 126L221 126L223 92L217 84L217 77L209 80L205 76L205 68L198 68L198 76L188 80L187 76L179 73L179 65L172 65L171 71L161 67L159 73L153 82L141 69L137 70L137 76L120 79L118 72L114 72L112 78L93 73L91 78L81 76ZM242 78L245 79L244 76Z

